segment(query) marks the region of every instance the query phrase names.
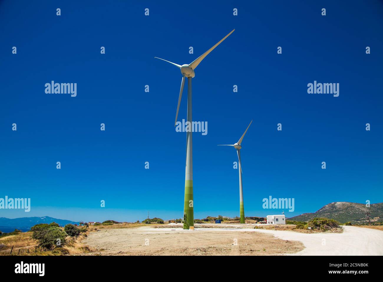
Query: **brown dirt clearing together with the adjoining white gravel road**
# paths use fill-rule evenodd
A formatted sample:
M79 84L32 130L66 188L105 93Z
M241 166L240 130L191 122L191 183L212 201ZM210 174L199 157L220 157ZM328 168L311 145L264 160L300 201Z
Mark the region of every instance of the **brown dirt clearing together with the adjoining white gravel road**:
M162 226L100 230L83 242L96 249L88 255L383 255L383 233L355 226L343 226L342 233L311 234L254 229L252 224L199 227L194 231Z

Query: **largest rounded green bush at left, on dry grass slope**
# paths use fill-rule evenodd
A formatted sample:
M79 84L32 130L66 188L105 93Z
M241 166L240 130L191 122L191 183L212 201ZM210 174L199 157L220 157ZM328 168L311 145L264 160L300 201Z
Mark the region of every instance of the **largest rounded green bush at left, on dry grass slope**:
M31 228L32 238L39 242L40 247L52 249L60 240L61 246L66 244L65 237L67 233L57 226L49 224L36 224ZM58 240L59 239L59 240Z

